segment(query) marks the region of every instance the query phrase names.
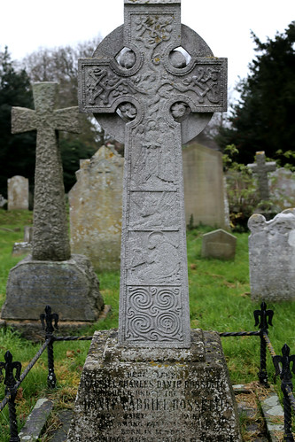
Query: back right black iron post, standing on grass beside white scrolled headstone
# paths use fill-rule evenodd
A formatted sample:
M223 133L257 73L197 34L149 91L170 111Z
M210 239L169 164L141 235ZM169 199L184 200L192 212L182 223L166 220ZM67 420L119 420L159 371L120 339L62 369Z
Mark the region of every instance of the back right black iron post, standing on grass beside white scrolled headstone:
M272 319L274 312L273 310L267 310L267 305L265 302L261 303L260 308L260 310L254 311L255 327L257 327L259 324L260 328L260 370L258 372L258 378L260 380L260 384L268 387L267 343L264 339L264 334L268 335L268 325L273 325Z

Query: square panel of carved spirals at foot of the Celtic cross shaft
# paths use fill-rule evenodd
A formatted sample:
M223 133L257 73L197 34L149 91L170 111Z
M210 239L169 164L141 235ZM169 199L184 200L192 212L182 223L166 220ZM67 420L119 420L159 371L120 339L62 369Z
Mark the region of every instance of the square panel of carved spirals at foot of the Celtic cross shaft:
M126 339L182 341L180 287L128 287Z

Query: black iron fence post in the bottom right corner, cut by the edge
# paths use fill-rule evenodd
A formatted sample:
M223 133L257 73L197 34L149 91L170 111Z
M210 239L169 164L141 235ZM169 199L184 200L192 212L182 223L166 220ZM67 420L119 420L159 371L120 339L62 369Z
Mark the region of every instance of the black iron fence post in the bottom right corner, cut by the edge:
M295 354L290 356L290 347L288 345L283 345L282 348L283 356L277 355L273 357L274 366L276 368L276 376L280 376L282 379L281 390L283 392L283 428L284 435L283 440L285 442L294 442L294 438L292 435L291 425L292 425L292 416L291 416L291 401L288 396L287 387L289 390L293 390L293 384L291 382L291 369L290 364L293 362L292 372L295 373ZM282 371L280 370L279 363L282 363Z

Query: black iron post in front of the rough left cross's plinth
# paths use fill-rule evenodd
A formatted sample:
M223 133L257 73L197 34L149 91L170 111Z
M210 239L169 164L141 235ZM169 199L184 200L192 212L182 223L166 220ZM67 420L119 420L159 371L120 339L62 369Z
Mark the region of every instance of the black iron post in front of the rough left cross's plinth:
M40 319L43 325L43 329L45 329L45 338L50 339L50 343L47 347L47 356L48 356L48 376L47 376L47 384L49 388L55 388L57 384L57 377L54 373L54 353L53 353L53 343L54 343L54 329L58 330L58 314L51 313L51 307L45 307L45 314L40 315ZM54 321L54 327L52 322Z

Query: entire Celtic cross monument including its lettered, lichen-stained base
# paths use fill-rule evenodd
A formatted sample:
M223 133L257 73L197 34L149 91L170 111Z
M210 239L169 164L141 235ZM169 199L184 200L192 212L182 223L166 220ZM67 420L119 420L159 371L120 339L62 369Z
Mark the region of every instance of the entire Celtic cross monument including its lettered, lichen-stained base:
M182 181L182 141L226 107L226 62L180 5L125 0L80 60L81 111L125 141L125 173L119 332L93 338L71 442L241 440L218 334L190 334Z

